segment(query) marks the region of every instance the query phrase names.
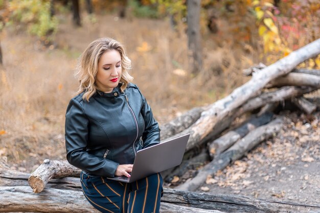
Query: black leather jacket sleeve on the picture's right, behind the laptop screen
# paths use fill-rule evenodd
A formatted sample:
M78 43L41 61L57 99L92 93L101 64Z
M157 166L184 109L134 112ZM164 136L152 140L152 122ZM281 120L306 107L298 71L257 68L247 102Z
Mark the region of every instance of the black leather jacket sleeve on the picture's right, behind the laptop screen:
M148 105L146 98L141 94L143 105L141 114L145 121L145 131L142 134L143 147L151 147L160 143L160 129L158 123L155 121L151 107Z

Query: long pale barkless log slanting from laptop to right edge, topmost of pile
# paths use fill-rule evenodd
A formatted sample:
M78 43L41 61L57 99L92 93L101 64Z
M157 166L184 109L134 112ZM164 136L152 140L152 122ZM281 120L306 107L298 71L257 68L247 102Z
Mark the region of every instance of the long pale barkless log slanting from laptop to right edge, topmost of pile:
M236 88L229 96L215 102L208 110L203 111L195 124L173 137L190 134L187 151L205 143L209 139L208 135L219 127L218 124L225 117L230 116L233 110L255 97L267 83L288 74L297 65L318 54L320 54L320 39L263 68L260 72L255 73L251 80Z

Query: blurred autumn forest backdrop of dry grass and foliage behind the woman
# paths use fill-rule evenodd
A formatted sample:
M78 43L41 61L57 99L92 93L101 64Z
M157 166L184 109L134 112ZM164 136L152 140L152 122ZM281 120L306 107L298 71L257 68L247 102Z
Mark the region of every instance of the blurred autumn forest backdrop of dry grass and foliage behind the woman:
M243 69L269 65L320 33L317 0L202 0L202 68L194 73L185 0L92 0L92 11L80 0L78 21L72 2L0 1L0 157L22 172L46 158L65 160L64 114L78 86L77 59L96 38L124 43L134 83L164 124L227 96L250 79ZM320 56L299 67L320 69Z

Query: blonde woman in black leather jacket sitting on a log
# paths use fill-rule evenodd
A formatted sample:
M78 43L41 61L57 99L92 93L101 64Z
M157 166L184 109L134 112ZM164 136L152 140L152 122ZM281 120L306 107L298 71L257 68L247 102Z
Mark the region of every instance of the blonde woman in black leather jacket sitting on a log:
M101 212L159 212L163 180L154 174L124 183L138 150L158 144L159 126L118 41L100 38L80 57L77 96L65 115L66 158L82 170L85 198Z

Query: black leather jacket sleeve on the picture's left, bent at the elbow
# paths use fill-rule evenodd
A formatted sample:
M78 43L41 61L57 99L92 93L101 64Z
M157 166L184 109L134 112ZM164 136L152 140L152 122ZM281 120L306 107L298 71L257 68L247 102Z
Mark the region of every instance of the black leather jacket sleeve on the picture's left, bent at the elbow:
M86 151L89 120L82 106L72 99L65 114L66 159L89 174L114 177L119 163L90 154Z

